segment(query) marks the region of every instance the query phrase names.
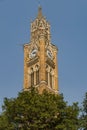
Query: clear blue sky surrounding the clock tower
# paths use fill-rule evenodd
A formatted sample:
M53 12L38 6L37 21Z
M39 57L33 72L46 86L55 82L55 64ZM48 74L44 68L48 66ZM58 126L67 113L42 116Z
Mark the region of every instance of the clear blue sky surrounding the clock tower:
M81 104L87 92L87 0L0 0L0 106L23 88L22 45L29 42L38 1L59 48L60 93L69 104Z

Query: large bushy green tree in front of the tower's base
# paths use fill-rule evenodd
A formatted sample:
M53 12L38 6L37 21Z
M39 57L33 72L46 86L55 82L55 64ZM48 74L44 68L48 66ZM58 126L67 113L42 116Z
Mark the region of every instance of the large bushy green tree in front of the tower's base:
M35 89L20 92L17 98L4 99L3 112L9 130L78 129L78 104L68 106L62 94L39 94Z

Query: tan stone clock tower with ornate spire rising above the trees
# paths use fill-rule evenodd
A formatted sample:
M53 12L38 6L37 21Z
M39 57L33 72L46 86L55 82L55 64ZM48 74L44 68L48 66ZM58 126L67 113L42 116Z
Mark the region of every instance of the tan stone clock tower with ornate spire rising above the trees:
M51 43L50 24L39 7L31 23L30 42L24 44L24 90L31 87L58 93L58 49Z

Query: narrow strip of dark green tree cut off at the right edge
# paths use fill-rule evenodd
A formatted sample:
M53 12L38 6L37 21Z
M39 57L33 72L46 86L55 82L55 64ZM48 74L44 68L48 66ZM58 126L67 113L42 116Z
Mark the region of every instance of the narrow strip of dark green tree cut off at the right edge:
M87 92L83 100L82 115L80 117L80 124L83 130L87 130Z

